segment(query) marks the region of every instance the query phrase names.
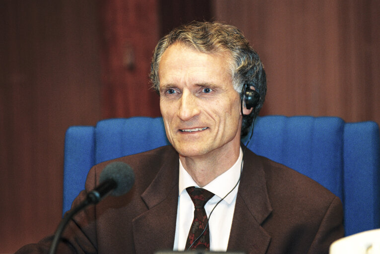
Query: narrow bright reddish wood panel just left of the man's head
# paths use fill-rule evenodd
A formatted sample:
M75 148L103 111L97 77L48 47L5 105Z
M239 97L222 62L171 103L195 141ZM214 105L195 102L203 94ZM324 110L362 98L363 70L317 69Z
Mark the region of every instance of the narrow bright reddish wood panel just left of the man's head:
M160 116L149 82L158 30L156 0L101 1L104 118Z

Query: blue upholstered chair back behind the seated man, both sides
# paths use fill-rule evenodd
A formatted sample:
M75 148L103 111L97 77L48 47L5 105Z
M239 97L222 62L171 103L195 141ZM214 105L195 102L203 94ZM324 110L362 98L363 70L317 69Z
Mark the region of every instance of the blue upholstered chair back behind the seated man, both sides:
M96 163L168 144L161 118L70 127L65 140L64 204L70 209ZM335 117L257 119L248 148L314 179L339 196L346 235L380 228L380 138L374 122Z

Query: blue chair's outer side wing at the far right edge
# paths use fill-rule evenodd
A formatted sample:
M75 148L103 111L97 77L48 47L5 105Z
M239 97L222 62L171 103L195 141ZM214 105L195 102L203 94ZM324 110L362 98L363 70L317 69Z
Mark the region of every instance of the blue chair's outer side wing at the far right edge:
M373 122L344 128L346 232L380 228L380 140Z

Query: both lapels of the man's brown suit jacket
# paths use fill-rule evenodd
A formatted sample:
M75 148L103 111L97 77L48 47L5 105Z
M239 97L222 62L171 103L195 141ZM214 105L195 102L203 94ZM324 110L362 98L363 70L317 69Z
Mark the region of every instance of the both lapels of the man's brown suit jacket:
M137 254L173 249L178 204L178 167L178 154L173 152L141 196L148 211L132 221ZM247 149L228 250L264 254L271 237L261 224L271 211L260 157Z

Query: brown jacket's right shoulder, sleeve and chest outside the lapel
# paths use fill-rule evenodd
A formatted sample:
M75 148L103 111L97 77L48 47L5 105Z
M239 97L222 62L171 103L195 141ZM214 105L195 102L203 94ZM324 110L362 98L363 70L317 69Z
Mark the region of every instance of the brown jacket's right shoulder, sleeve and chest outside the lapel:
M344 235L340 199L285 165L254 153L247 157L250 175L264 179L271 207L261 223L272 238L268 253L328 253L329 245Z

